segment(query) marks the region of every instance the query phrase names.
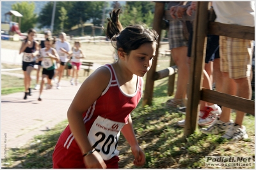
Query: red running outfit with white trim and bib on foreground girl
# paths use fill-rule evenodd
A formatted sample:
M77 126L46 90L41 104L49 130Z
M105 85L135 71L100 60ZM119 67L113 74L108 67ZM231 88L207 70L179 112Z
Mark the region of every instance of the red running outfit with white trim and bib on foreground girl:
M106 161L119 154L116 147L118 146L120 131L127 124L129 114L136 108L142 97L143 79L137 76L136 92L126 94L120 89L115 70L111 64L106 64L103 67L107 67L111 73L108 87L83 113L83 120L90 145ZM57 164L61 162L65 162L68 167L76 167L75 164L78 162L83 164L83 155L69 125L58 139L52 159L55 167L60 167Z

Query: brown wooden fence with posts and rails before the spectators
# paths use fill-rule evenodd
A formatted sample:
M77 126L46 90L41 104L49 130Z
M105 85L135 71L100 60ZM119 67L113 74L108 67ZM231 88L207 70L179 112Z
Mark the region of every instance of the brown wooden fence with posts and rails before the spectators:
M212 22L212 20L214 20L214 15L209 15L210 11L208 10L208 4L209 2L207 1L198 2L195 15L192 17L184 16L184 18L182 18L182 20L194 20L191 71L189 74L188 103L186 109L187 113L186 124L184 127L184 136L193 134L193 132L198 128L197 122L200 100L220 104L221 106L225 106L227 108L232 108L235 110L244 111L245 113L249 113L251 115L255 115L254 101L202 88L202 73L205 60L204 45L205 37L207 34L254 40L255 30L254 27ZM164 11L164 3L157 2L155 6L153 29L157 31L159 37L161 36L161 25L163 25L161 23L163 23L164 17L166 19L172 20L169 11ZM143 96L143 106L146 104L152 104L154 81L157 80L156 74L159 74L159 72L156 73L157 57L158 47L155 57L156 62L153 62L151 69L147 73L145 93ZM160 72L163 73L163 71ZM164 74L164 76L168 76L168 74ZM161 76L161 78L163 78L163 76ZM174 86L173 78L169 81L169 86L170 85ZM168 89L169 95L172 94L172 90L173 88Z

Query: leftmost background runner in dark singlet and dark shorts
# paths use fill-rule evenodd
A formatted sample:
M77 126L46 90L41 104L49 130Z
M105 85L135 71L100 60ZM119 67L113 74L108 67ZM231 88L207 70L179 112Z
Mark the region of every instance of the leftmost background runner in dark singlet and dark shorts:
M35 57L38 55L39 43L34 40L34 36L36 34L35 29L29 29L28 38L22 41L22 45L20 46L20 53L23 54L22 59L22 70L24 73L24 87L25 87L25 96L23 99L27 99L27 96L31 96L31 71L34 69L35 65Z

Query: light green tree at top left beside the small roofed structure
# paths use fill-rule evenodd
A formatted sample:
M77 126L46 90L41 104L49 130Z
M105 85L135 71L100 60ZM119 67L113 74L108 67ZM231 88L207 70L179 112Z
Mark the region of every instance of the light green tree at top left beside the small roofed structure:
M37 16L36 16L36 13L34 13L35 3L33 2L15 3L15 4L12 4L12 10L18 11L23 15L23 17L21 18L21 23L19 25L21 32L27 32L29 29L35 27L37 22Z

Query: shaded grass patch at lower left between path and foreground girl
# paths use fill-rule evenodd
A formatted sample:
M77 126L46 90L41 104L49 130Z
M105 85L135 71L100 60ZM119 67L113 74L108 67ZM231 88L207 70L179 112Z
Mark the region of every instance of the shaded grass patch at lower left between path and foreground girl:
M11 156L8 157L7 162L14 162L14 164L13 166L2 166L2 168L51 169L54 147L66 126L67 121L62 122L53 129L45 131L44 135L35 136L28 145L22 148L11 148L9 152Z

